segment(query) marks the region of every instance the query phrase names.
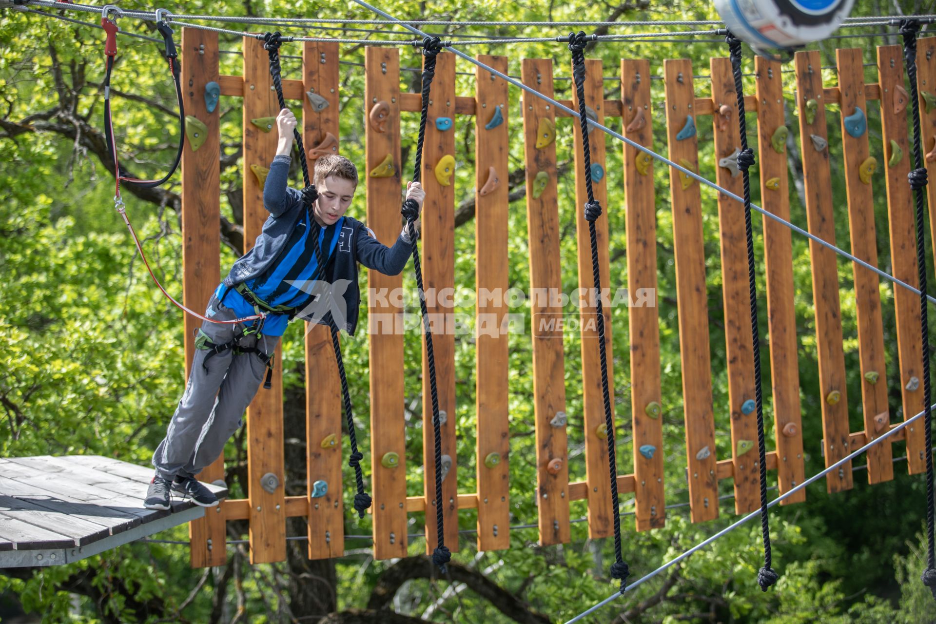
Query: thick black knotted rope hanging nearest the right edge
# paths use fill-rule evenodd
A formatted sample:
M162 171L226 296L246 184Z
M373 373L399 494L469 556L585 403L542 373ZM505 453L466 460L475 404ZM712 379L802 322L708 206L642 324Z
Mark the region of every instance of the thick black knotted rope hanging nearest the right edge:
M920 98L916 92L916 33L920 22L901 20L900 35L903 36L903 59L907 65L907 78L910 79L910 100L914 107L914 170L910 172L910 188L916 199L916 268L919 272L920 288L920 342L923 348L923 430L926 440L927 459L927 542L929 551L927 569L921 580L936 598L936 544L933 540L933 456L932 456L932 416L929 411L929 321L927 319L927 262L926 236L923 225L924 197L923 189L927 185L927 168L923 164L923 140L920 137Z

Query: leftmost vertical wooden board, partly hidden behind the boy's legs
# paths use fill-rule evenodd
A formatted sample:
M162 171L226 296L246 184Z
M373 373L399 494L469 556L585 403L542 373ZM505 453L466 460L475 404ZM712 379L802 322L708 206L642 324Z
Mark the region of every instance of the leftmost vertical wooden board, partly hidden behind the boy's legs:
M201 48L204 46L204 48ZM204 50L204 53L199 53ZM189 115L208 127L205 142L192 151L186 140L182 153L182 264L183 301L186 307L202 311L212 298L221 274L221 240L218 223L221 219L221 131L218 104L213 112L205 106L205 85L218 81L218 35L194 28L182 30L183 105ZM192 369L195 356L195 331L201 321L185 314L185 379ZM198 478L212 482L225 478L225 457L222 454L205 468ZM224 503L222 503L223 505ZM193 568L224 565L227 549L214 548L227 537L221 505L188 524Z

